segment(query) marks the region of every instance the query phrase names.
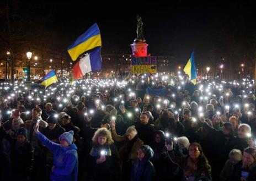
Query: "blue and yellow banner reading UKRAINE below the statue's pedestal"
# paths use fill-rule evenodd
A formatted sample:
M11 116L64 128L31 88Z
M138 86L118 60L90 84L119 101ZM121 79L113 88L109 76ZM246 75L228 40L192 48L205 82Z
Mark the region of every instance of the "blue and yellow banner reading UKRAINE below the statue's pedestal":
M157 73L157 57L133 57L131 72L134 74Z

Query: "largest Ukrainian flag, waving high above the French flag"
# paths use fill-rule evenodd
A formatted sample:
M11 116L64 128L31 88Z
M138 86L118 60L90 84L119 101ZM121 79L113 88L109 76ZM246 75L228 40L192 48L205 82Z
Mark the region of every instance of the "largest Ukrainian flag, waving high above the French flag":
M98 46L102 46L102 39L100 37L99 27L97 23L94 23L67 48L67 51L72 61L76 61L80 54Z

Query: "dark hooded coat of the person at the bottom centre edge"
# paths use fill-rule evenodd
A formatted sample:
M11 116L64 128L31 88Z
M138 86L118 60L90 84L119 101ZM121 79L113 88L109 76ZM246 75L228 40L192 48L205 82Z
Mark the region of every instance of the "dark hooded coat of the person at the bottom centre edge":
M132 165L131 181L151 181L154 180L154 166L150 161L153 157L154 151L148 145L142 145L145 149L145 157L137 160Z

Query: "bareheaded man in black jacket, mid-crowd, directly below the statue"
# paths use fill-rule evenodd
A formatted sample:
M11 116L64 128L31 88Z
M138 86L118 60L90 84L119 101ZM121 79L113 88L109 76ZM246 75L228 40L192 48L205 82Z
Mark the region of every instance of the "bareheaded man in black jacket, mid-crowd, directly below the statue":
M140 122L135 123L135 128L138 131L138 138L147 145L150 145L153 141L154 134L154 125L150 124L149 120L150 114L142 112Z

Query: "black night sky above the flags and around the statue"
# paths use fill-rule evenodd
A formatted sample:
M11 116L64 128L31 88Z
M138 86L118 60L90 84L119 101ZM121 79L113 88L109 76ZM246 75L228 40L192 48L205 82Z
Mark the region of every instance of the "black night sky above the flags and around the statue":
M247 53L244 51L253 50L255 6L241 2L169 1L167 5L159 1L122 4L99 1L33 1L28 4L20 1L19 8L20 13L42 17L45 29L49 34L56 33L63 49L96 22L102 35L103 51L130 51L130 43L136 38L136 15L139 14L143 20L143 35L149 44L148 53L172 55L185 63L193 49L196 62L209 61L213 51L218 57L226 58L233 42L243 47L238 57Z

